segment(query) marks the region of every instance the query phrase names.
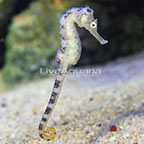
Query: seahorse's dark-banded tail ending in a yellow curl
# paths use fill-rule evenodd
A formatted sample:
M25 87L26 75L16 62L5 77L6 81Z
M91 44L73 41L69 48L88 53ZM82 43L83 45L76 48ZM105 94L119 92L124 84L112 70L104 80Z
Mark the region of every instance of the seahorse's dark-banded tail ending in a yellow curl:
M46 126L59 97L64 77L65 73L61 70L61 68L58 68L53 91L39 125L39 135L41 138L47 141L56 136L56 131L53 128L46 129Z

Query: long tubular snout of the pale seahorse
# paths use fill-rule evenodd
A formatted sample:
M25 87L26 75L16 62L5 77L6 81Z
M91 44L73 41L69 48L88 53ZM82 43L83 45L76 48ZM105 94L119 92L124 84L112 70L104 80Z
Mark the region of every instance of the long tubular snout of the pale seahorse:
M102 45L108 43L108 40L103 39L103 38L98 34L97 29L89 30L89 31L90 31L90 33L91 33Z

